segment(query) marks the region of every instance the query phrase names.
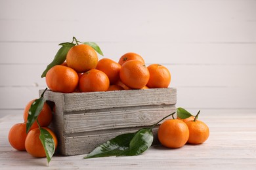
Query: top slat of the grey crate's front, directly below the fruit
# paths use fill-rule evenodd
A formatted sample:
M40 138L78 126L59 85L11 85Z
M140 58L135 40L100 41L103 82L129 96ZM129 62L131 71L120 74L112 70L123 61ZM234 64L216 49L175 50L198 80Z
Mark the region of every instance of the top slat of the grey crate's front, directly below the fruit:
M142 105L172 105L177 102L175 88L120 90L110 92L65 93L64 112Z

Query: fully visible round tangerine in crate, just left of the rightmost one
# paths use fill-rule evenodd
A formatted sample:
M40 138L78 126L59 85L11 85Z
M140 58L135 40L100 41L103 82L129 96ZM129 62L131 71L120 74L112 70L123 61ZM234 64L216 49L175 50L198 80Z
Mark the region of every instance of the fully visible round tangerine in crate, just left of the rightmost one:
M119 75L121 82L133 89L143 88L150 78L148 68L139 60L130 60L123 63Z

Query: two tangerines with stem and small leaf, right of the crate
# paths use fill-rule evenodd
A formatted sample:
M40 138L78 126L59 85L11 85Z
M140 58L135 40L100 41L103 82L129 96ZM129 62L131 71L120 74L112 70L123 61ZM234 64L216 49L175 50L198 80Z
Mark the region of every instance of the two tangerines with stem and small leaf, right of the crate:
M167 148L180 148L184 144L202 144L209 137L209 127L185 109L177 109L177 118L165 120L158 129L158 139Z

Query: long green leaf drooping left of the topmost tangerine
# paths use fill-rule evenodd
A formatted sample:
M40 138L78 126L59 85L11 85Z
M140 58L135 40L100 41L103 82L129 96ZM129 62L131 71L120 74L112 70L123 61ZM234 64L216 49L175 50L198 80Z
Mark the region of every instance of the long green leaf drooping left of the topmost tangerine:
M49 71L49 69L51 69L51 67L53 67L54 65L62 64L66 60L66 56L67 56L70 48L72 48L72 46L75 46L75 44L70 43L70 42L64 42L64 43L62 43L62 45L63 46L60 47L60 49L56 53L53 61L49 65L47 65L45 71L43 71L43 74L41 75L42 78L46 76L46 73Z

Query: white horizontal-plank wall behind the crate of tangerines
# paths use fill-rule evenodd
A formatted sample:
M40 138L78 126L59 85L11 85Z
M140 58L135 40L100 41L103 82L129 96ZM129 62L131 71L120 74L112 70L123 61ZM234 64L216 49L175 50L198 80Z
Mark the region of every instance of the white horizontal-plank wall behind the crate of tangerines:
M0 0L0 116L38 97L73 36L168 67L179 107L256 109L256 1Z

